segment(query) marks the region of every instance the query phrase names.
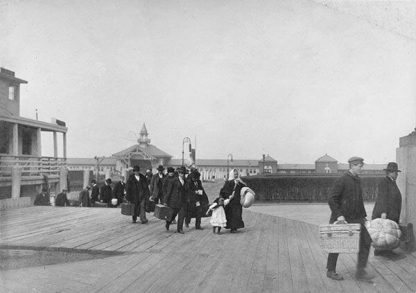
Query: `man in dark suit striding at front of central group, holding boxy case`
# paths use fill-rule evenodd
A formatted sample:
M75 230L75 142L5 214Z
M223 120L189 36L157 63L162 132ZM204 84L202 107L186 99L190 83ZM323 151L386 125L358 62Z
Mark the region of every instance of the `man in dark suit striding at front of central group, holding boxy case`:
M183 225L186 215L187 204L189 204L189 186L185 180L185 174L187 174L187 168L184 166L178 170L178 177L175 177L169 182L168 190L164 202L166 206L173 208L173 215L170 221L166 221L166 230L169 230L169 225L173 219L177 217L177 233L184 234Z

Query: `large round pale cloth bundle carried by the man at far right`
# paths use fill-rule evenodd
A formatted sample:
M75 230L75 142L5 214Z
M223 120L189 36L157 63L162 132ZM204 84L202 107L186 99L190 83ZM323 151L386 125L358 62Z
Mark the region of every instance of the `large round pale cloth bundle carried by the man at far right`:
M367 227L372 246L378 250L390 250L399 247L401 231L399 225L388 219L374 219Z

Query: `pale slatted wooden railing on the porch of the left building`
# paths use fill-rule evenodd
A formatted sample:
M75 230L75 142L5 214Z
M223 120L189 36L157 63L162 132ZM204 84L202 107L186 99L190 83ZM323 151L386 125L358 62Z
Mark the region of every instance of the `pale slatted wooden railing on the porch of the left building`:
M12 166L21 167L21 176L59 175L60 168L67 167L67 159L0 155L0 177L10 177Z

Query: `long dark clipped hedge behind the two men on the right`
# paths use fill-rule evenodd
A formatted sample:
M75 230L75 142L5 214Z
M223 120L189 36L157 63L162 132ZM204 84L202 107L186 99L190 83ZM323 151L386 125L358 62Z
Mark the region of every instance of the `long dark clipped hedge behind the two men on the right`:
M262 202L302 201L327 202L331 186L340 175L244 177L243 180ZM376 199L377 183L383 176L360 176L363 199Z

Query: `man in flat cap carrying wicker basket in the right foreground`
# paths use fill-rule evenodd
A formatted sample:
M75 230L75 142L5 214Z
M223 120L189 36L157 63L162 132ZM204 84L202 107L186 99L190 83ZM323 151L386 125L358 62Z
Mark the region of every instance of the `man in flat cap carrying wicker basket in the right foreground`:
M367 229L365 229L367 213L365 213L363 202L361 179L358 177L364 166L364 159L352 157L348 160L348 163L349 170L337 179L331 188L331 194L328 198L328 204L331 208L329 224L336 224L337 222L361 224L360 248L355 276L358 280L369 280L372 276L365 272L365 267L367 266L368 254L370 252L371 238ZM336 272L337 260L338 254L328 255L327 277L341 281L344 278Z

